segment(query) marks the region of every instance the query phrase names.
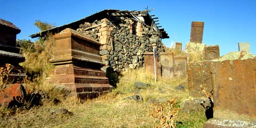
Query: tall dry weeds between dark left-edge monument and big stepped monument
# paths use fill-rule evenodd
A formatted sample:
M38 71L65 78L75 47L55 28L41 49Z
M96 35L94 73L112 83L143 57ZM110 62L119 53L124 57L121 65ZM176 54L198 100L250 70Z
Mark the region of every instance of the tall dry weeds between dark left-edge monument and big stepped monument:
M50 59L55 50L55 39L53 36L48 36L46 39L39 39L30 47L23 47L22 54L26 58L21 65L26 70L28 81L35 84L38 90L48 90L51 88L47 83L46 78L49 76L50 70L54 68ZM31 84L31 83L30 83Z

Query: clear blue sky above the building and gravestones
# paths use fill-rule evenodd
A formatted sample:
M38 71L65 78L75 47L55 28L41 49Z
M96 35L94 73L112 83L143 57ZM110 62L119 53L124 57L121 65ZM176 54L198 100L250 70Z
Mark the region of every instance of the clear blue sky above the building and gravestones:
M220 54L238 51L238 43L251 44L251 53L256 54L256 1L254 0L175 0L175 1L4 1L1 2L0 18L14 23L21 29L19 39L31 39L38 33L35 20L61 26L85 18L105 9L145 10L154 9L151 15L159 18L160 25L170 38L163 43L170 47L175 41L183 49L189 42L191 21L204 22L203 43L219 45Z

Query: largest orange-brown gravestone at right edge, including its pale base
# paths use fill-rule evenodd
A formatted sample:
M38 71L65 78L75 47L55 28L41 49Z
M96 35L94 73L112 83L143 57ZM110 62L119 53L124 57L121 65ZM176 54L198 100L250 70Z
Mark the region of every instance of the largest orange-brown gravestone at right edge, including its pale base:
M256 127L256 56L231 52L211 62L214 114L204 127Z

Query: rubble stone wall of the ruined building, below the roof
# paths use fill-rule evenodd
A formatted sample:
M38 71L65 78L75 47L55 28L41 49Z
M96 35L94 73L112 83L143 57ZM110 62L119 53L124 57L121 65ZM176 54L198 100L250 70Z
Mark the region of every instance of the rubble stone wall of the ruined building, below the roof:
M158 52L164 52L164 45L157 31L142 21L128 17L111 17L93 23L81 24L77 31L91 36L101 43L100 54L105 67L116 71L137 68L144 65L144 53L152 52L156 44Z

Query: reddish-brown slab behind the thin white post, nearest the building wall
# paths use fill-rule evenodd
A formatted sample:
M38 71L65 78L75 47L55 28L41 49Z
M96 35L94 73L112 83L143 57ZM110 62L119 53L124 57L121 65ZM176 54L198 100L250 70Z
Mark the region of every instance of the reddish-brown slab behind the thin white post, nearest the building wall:
M154 53L153 52L145 52L145 69L151 74L155 74L155 64L154 64ZM156 67L158 67L158 58L156 58ZM158 70L156 70L158 74Z

